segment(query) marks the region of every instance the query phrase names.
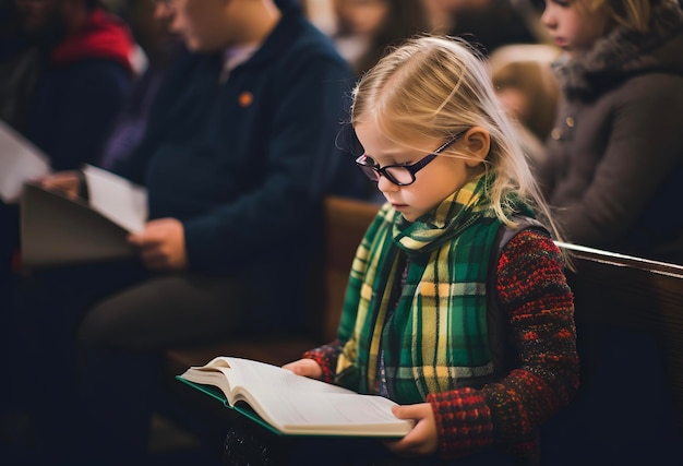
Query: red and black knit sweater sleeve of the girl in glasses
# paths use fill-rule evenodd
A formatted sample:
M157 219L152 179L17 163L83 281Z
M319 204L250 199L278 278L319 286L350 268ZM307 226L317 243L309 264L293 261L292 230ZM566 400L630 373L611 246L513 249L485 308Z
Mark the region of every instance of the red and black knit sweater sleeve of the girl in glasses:
M532 230L515 236L501 253L496 291L501 312L508 318L515 366L481 390L428 396L442 457L464 456L493 444L530 454L540 425L578 387L573 295L551 238Z

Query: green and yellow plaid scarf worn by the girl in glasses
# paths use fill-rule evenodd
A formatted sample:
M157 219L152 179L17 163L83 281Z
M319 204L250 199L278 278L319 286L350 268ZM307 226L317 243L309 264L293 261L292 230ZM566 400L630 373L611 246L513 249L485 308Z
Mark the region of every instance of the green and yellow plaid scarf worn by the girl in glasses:
M381 208L351 266L337 383L375 393L381 355L390 397L404 404L492 373L487 277L501 223L487 196L491 181L475 179L415 223ZM393 296L402 258L409 266Z

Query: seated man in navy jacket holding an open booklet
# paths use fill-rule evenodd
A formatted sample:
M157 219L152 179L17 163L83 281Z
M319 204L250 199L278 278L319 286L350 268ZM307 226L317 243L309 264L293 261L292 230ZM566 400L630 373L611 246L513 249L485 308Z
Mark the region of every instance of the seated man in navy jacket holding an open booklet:
M139 254L36 273L15 311L50 354L41 379L60 380L59 404L34 402L50 459L140 464L164 349L304 328L323 196L340 166L349 192L361 180L336 147L351 72L299 8L165 0L156 15L187 49L111 167L148 192Z

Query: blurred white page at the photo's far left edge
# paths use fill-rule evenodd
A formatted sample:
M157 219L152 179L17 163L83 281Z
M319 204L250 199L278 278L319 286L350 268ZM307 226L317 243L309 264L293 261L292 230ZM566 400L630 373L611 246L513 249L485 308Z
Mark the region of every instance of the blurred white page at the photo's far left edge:
M0 198L19 201L24 183L51 171L48 157L28 140L0 120Z

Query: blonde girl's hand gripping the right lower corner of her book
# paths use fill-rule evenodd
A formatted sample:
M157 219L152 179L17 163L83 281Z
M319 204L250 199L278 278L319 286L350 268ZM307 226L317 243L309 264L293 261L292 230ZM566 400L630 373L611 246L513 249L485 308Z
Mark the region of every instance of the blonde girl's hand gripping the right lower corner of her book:
M399 419L415 419L415 427L400 440L386 441L386 447L400 456L426 456L436 453L439 434L436 420L429 403L394 406Z

